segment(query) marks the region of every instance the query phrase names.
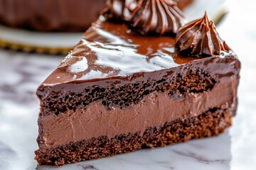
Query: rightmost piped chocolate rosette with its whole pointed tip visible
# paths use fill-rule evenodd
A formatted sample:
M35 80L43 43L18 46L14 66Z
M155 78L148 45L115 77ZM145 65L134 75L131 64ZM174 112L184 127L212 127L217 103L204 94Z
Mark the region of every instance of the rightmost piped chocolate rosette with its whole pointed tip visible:
M181 27L176 34L176 47L183 55L198 55L208 57L220 55L221 51L228 52L229 47L218 35L213 21L207 13Z

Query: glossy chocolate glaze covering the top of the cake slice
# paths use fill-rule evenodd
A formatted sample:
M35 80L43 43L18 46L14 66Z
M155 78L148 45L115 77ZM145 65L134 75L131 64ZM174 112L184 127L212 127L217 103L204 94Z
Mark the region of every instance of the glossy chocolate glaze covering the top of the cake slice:
M234 67L225 67L227 60L233 63ZM220 63L218 67L223 69L216 70L217 63ZM150 73L151 79L160 79L162 76L159 74L182 73L187 67L186 64L208 69L216 75L230 72L235 74L240 68L232 50L229 53L222 52L220 56L206 58L182 57L176 51L174 38L139 35L124 23L112 23L105 21L105 18L100 18L85 32L82 40L63 60L58 69L41 84L41 87L58 89L58 84L63 86L63 83L81 84L83 82L88 82L90 86L90 82L93 84L93 81L101 81L102 86L107 86L103 83L109 81L107 79L136 81L135 78L147 79L145 76L147 72L154 72ZM38 95L45 96L41 87ZM73 90L79 91L78 89L80 88L76 87Z

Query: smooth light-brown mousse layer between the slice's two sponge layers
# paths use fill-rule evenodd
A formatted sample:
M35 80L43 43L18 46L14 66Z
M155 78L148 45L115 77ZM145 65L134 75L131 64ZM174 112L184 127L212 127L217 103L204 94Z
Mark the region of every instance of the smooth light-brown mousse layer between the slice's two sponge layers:
M188 94L186 98L171 98L166 92L153 92L144 96L137 104L132 103L127 108L113 107L107 110L102 103L90 103L86 108L68 111L66 114L43 116L43 138L39 146L41 152L64 145L67 142L90 140L93 137L115 137L122 133L143 135L147 128L162 126L166 122L178 118L188 119L198 117L215 106L225 104L230 108L230 115L235 115L236 94L233 89L238 84L237 79L215 84L211 91L200 94ZM223 96L223 94L225 94ZM90 129L90 130L88 130Z

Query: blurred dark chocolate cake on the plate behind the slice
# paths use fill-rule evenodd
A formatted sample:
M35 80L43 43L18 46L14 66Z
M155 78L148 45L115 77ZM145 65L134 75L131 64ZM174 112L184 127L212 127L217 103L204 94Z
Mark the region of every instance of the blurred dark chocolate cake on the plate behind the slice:
M191 1L178 4L183 8ZM105 6L106 0L0 0L0 24L45 32L83 32Z

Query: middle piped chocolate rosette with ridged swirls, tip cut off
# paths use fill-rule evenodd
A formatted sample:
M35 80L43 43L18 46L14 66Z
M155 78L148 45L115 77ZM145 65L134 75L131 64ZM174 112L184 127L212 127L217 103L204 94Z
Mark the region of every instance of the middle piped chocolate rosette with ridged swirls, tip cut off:
M142 35L173 35L184 21L183 13L176 1L142 0L134 9L132 28Z

